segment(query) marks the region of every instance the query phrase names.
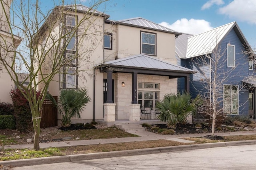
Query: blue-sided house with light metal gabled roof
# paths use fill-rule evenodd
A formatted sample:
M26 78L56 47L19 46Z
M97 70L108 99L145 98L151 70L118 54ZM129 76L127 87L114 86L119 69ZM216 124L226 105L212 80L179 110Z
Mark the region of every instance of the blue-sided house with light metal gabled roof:
M177 63L196 71L190 76L192 96L201 94L210 104L217 103L223 113L255 119L256 74L250 50L236 22L176 39ZM183 81L178 79L179 91L184 89Z

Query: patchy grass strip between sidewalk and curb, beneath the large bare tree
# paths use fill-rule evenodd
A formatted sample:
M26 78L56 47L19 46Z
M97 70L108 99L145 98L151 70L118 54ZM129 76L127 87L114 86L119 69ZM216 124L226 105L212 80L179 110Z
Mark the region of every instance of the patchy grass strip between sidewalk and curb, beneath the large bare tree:
M86 154L95 152L110 152L118 150L130 150L130 149L143 149L154 147L168 147L186 145L176 141L169 140L155 140L155 141L139 141L128 143L112 143L112 144L99 144L99 145L85 145L85 146L73 146L73 147L60 147L60 148L47 148L40 149L38 151L22 149L4 149L0 152L0 161L3 160L17 160L28 158L39 158L48 156L62 156L72 154Z

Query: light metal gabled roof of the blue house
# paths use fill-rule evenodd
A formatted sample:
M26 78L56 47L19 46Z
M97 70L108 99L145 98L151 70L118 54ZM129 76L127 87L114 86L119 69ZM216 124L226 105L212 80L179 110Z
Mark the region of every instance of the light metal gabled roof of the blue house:
M241 29L234 21L210 31L189 37L186 58L212 53L214 48L224 39L231 29L234 29L242 44L250 48L249 43L244 37Z

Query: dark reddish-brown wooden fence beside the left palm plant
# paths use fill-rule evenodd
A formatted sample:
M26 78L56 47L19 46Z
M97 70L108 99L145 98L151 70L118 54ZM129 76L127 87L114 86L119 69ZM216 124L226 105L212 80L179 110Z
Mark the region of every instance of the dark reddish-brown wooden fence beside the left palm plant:
M57 96L54 96L56 102L58 100ZM54 104L46 99L43 103L43 113L40 123L40 127L53 127L58 125L58 109L54 107Z

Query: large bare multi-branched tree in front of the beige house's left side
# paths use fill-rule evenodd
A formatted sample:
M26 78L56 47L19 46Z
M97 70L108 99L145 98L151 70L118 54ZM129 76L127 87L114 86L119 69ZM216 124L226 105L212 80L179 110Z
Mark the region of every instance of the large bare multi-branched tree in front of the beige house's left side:
M40 149L42 104L50 82L56 81L54 77L59 74L86 74L86 70L93 68L94 63L90 59L93 51L103 47L104 27L100 23L104 20L99 22L98 19L106 16L96 9L104 1L94 1L90 8L81 10L77 8L76 1L67 5L64 0L60 0L56 4L58 6L47 12L39 4L40 0L15 0L11 6L6 0L0 0L2 6L7 5L10 8L11 16L8 16L7 10L4 10L4 15L8 18L7 26L12 33L12 39L15 39L13 34L16 34L24 40L16 49L15 41L9 43L1 37L0 63L29 102L35 150ZM75 17L70 18L67 15ZM71 49L69 55L65 55L70 47L75 48ZM18 81L20 72L28 73L23 82ZM24 86L23 83L27 80L29 84ZM68 85L67 82L66 86L72 87L73 84ZM36 95L37 90L40 90L39 97Z

